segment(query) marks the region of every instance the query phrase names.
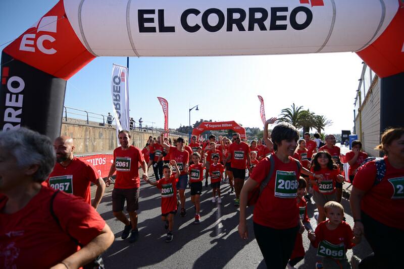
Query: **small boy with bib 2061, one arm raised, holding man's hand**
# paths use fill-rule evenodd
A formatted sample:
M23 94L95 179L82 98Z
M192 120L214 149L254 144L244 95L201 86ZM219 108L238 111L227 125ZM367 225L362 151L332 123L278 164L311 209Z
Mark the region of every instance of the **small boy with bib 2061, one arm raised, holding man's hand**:
M172 174L172 169L175 168L177 173ZM160 179L158 182L151 182L146 180L150 185L157 186L161 190L161 219L166 222L165 228L168 229L166 242L173 241L173 226L174 226L174 215L177 213L177 188L176 183L180 176L180 170L177 163L174 160L170 161L169 164L163 165L163 175L164 178Z

